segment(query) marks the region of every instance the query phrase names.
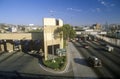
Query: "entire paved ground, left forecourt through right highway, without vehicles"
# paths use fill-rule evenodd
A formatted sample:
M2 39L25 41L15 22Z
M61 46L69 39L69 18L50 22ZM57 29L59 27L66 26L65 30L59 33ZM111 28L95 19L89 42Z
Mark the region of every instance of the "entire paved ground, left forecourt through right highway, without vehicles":
M67 68L56 73L41 65L37 54L11 52L0 54L0 79L114 79L120 77L120 48L113 52L105 51L101 43L104 41L69 42L67 47ZM87 44L89 48L84 48ZM102 67L91 67L87 58L96 56L102 61Z

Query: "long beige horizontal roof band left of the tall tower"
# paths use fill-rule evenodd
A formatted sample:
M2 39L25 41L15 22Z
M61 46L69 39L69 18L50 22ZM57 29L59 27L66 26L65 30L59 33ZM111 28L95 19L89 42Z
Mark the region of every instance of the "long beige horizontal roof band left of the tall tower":
M0 40L38 40L43 39L42 32L36 33L0 33Z

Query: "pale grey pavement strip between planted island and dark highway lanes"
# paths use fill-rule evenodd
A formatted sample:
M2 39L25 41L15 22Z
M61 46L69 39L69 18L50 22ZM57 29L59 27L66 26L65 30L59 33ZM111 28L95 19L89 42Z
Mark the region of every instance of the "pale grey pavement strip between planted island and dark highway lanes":
M77 46L79 46L79 43ZM88 66L88 63L86 63L86 59L79 53L74 45L70 44L70 50L71 50L71 61L73 66L73 72L75 78L95 78L97 79L97 74Z

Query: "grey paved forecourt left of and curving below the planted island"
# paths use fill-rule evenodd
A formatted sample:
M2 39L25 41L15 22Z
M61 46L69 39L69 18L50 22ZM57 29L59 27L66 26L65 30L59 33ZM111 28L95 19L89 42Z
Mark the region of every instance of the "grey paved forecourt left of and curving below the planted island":
M56 74L47 72L40 67L36 55L23 52L12 52L0 55L0 79L12 78L73 78L72 70L66 73Z

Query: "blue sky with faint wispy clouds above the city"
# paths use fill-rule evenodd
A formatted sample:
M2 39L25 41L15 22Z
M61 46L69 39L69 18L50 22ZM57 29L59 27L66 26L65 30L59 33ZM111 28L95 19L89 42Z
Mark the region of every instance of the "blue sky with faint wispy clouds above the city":
M42 26L43 18L73 26L120 24L120 0L0 0L0 23Z

